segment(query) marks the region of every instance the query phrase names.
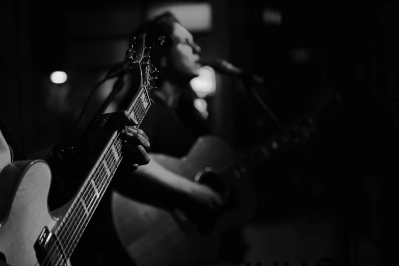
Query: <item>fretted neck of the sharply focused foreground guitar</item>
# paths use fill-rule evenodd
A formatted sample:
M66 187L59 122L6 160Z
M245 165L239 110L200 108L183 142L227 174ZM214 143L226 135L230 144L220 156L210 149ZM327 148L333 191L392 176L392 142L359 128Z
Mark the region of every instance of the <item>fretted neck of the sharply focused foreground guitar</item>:
M146 89L141 87L127 111L140 125L150 106L149 95ZM138 128L139 125L131 127ZM115 131L56 229L55 234L63 245L67 258L72 254L122 161L121 147L120 131Z

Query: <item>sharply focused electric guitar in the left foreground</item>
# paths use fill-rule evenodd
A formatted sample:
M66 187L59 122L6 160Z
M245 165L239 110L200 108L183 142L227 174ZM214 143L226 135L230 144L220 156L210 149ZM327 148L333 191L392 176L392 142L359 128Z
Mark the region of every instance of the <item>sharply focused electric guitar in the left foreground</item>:
M141 123L151 106L158 71L145 34L126 52L138 91L126 109ZM134 126L137 128L138 126ZM63 207L49 213L51 172L46 162L19 161L0 175L0 259L18 266L70 265L70 257L122 161L120 133L113 132L81 189ZM0 206L0 207L1 207Z

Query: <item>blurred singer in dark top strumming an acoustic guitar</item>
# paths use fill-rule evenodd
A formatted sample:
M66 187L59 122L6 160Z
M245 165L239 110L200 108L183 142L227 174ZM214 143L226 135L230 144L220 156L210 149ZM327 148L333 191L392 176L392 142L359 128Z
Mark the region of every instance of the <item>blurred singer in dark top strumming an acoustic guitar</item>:
M134 35L144 32L149 36L169 34L174 45L167 54L153 54L159 69L157 88L140 128L151 142L151 152L182 157L198 137L211 134L208 121L194 108L190 88L191 79L199 75L201 48L171 12L145 22ZM121 107L125 108L129 100L127 97ZM168 210L183 209L192 219L206 217L207 212L223 204L221 196L207 185L173 173L154 160L140 167L134 176L123 179L131 183L119 192Z

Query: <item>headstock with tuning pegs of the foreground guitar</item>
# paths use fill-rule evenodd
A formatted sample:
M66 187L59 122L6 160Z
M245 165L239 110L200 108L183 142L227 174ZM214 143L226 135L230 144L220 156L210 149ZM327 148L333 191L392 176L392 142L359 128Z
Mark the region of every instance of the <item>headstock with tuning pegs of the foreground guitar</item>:
M154 44L148 39L145 33L137 38L132 37L129 49L126 51L126 60L129 61L129 68L134 72L135 88L143 88L152 102L159 71L156 69L152 56Z

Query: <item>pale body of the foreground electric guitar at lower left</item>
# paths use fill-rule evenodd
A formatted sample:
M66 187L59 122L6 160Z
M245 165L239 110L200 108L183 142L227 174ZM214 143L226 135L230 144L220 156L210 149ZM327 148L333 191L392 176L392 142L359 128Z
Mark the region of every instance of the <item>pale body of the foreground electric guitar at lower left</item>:
M0 252L10 265L38 265L34 244L62 217L64 207L48 211L50 182L50 169L40 160L9 164L0 173L0 199L7 202L0 210Z

